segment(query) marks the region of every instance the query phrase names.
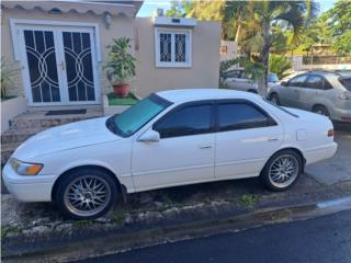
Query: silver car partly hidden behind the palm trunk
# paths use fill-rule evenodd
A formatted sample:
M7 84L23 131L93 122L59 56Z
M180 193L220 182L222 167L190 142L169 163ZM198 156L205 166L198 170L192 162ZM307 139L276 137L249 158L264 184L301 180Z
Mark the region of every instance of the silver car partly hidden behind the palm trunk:
M276 73L268 75L269 88L278 83L278 81L279 81L279 78ZM244 69L233 69L233 70L226 71L222 76L222 82L224 83L225 88L230 90L258 93L258 82L254 80L251 80L249 76L246 75Z

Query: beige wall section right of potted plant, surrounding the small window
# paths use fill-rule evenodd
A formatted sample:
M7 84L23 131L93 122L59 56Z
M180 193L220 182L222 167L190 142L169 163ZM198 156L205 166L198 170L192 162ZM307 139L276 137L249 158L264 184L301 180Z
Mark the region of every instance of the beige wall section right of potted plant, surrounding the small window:
M157 68L155 61L155 26L151 18L136 19L137 77L136 93L186 89L218 88L220 23L197 22L192 30L192 67Z

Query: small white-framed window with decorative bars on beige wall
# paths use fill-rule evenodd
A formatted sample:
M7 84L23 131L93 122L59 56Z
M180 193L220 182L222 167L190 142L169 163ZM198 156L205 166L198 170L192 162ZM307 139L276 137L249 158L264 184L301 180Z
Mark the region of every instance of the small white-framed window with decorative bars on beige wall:
M155 31L157 67L191 67L191 31Z

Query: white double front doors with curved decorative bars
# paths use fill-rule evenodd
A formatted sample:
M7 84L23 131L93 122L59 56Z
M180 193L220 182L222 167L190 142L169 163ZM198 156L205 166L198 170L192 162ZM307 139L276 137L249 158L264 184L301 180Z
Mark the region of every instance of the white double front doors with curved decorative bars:
M92 30L21 26L19 34L29 105L99 102Z

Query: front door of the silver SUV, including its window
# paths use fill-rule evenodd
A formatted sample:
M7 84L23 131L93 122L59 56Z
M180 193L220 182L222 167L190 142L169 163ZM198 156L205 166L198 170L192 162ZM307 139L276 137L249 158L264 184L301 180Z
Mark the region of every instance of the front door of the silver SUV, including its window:
M280 94L280 100L283 105L301 107L301 102L298 101L302 92L301 87L304 84L306 79L306 75L299 75L288 81L287 87L282 89L282 94Z

